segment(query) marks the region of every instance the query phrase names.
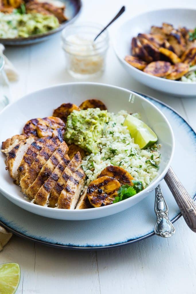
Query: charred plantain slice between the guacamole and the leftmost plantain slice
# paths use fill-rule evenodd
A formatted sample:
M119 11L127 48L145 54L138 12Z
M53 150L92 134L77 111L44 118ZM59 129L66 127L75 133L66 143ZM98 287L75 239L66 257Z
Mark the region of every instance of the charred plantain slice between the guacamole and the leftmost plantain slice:
M61 118L54 116L48 116L40 119L36 127L39 138L48 136L52 137L53 133L55 133L56 136L56 133L59 133L58 129L60 130L61 135L63 135L65 124Z

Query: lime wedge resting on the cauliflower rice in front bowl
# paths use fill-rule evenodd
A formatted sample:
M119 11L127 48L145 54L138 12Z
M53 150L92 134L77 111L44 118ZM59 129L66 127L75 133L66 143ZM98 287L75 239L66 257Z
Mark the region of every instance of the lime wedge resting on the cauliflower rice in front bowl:
M123 126L127 126L131 137L134 138L134 143L138 144L141 149L152 146L158 140L157 135L149 126L130 114L126 116Z

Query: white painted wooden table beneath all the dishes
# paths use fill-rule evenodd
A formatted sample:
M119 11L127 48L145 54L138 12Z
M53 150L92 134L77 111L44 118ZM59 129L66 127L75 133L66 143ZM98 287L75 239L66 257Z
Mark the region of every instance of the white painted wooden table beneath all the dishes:
M113 24L111 34L130 16L157 8L195 7L195 0L83 0L78 21L106 24L122 4L127 10ZM60 34L32 46L8 47L5 54L20 74L20 80L11 84L13 100L40 88L77 81L66 73ZM91 81L154 96L175 108L196 129L196 97L175 98L139 84L121 68L112 47L108 50L104 75ZM50 248L13 236L0 253L0 263L20 264L21 282L17 294L195 294L196 234L182 218L175 223L175 228L175 235L169 239L153 236L120 248L88 252Z

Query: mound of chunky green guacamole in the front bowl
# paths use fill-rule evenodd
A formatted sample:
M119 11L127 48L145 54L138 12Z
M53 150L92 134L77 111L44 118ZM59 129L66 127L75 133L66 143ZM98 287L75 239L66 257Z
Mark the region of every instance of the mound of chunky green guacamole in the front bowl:
M67 118L65 140L80 146L89 153L96 154L106 122L108 122L107 110L99 108L74 110Z

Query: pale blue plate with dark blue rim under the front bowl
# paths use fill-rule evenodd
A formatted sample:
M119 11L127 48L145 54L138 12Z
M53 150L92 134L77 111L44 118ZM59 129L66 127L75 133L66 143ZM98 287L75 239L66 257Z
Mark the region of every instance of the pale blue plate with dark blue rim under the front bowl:
M169 106L150 98L167 117L175 135L172 168L192 198L196 195L196 134ZM174 222L180 211L166 183L161 187ZM137 242L153 235L155 225L154 192L135 206L113 216L95 220L67 221L37 216L0 195L0 223L13 233L35 242L71 249L103 249ZM35 226L36 217L36 226Z

